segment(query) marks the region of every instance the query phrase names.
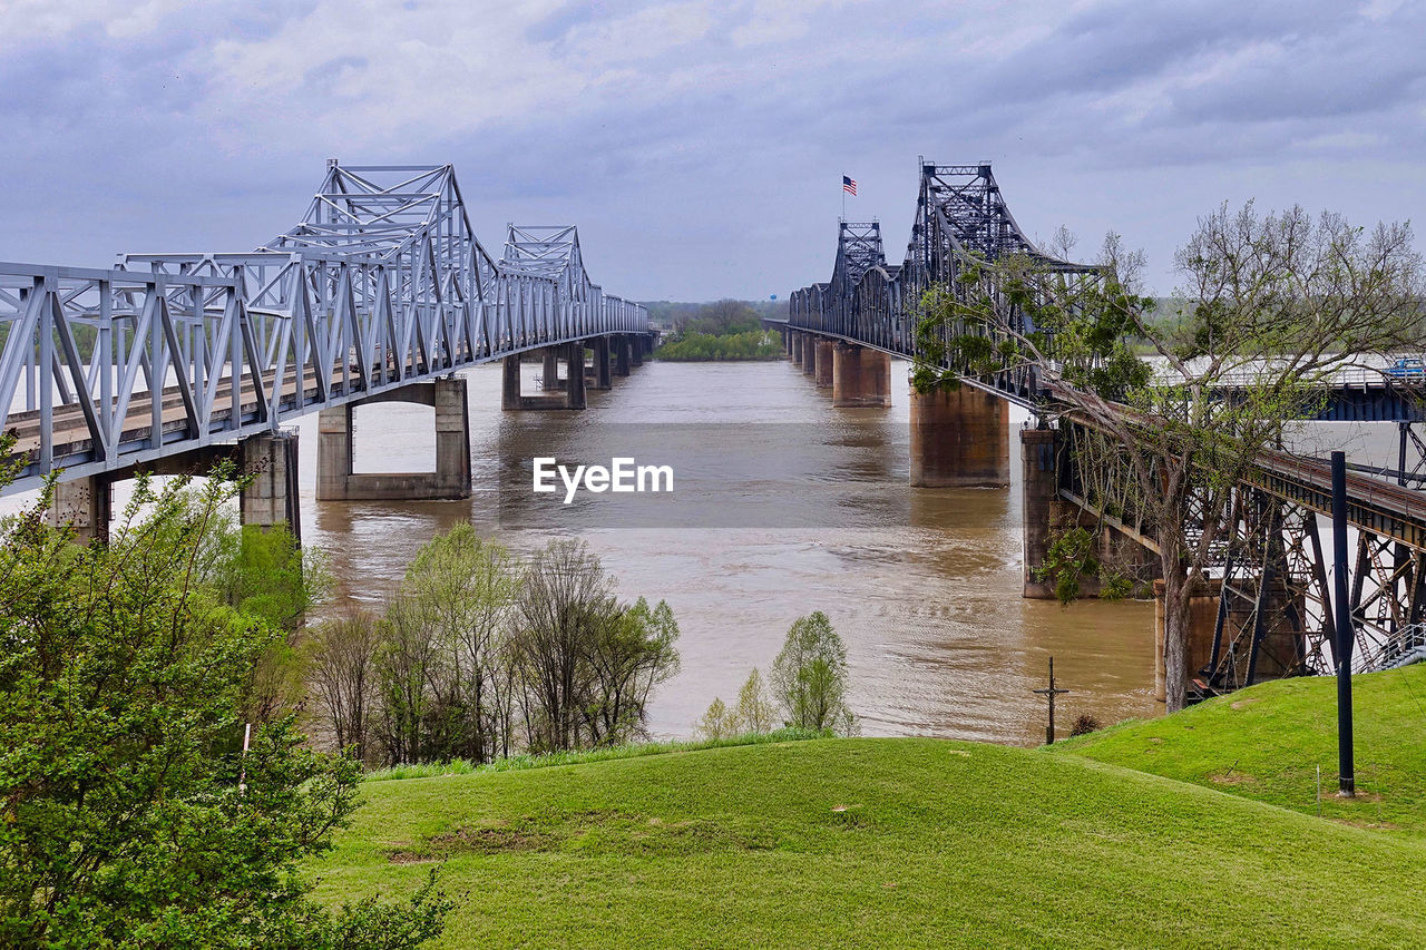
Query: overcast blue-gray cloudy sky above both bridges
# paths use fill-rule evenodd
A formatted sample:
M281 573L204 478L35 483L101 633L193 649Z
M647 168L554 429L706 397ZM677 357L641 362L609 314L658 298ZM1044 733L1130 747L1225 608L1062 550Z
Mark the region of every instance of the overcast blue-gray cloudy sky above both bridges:
M1426 230L1423 37L1397 0L0 0L0 260L247 250L338 157L453 163L496 255L578 224L609 292L784 298L843 174L900 261L925 155L1169 291L1225 200Z

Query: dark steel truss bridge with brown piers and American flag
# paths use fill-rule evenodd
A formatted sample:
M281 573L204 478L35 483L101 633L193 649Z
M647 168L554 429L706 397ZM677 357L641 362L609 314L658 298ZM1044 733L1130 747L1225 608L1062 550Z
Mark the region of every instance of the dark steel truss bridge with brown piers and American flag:
M1015 223L988 164L920 163L915 220L900 264L887 262L877 221L840 221L831 278L791 294L789 318L767 321L786 337L787 352L834 405L888 405L886 359L920 355L917 302L933 288L961 292L964 268L1002 255L1024 255L1068 281L1095 281L1095 267L1060 260L1037 247ZM1031 317L1018 328L1030 332ZM965 328L945 328L947 334ZM1052 345L1052 344L1051 344ZM1156 552L1154 526L1131 499L1117 496L1124 479L1092 452L1092 434L1058 412L1052 387L1028 369L965 378L958 392L911 395L911 481L918 485L1008 485L1008 404L1042 422L1021 432L1025 516L1025 596L1051 596L1032 575L1052 531L1089 525L1105 559L1139 561ZM1419 387L1387 374L1338 379L1322 421L1396 422L1396 471L1358 466L1349 478L1348 518L1356 553L1350 612L1356 669L1383 669L1426 658L1426 496L1420 459L1426 448L1413 424ZM1112 512L1112 514L1107 514ZM1189 678L1201 693L1256 680L1329 672L1335 666L1329 571L1319 522L1330 519L1328 465L1269 454L1235 489L1232 531L1215 549L1211 589L1195 603ZM1185 512L1192 525L1195 514ZM1162 655L1159 658L1162 688Z

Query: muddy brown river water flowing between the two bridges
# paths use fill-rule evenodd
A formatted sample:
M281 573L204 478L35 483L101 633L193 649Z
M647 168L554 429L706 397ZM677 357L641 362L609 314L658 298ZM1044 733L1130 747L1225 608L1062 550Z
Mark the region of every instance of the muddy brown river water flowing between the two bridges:
M1062 723L1156 715L1152 605L1021 599L1018 441L1008 491L910 488L906 364L893 371L890 409L833 409L786 362L652 362L590 392L583 414L502 414L499 367L476 368L465 374L469 502L318 502L307 417L304 541L331 553L344 598L375 602L425 541L462 519L515 552L583 538L623 596L666 599L679 619L682 672L653 703L657 735L690 735L713 698L732 700L753 666L766 672L789 625L816 609L846 640L867 735L1040 742L1044 700L1030 690L1051 655L1072 690ZM525 372L529 391L539 368ZM431 412L358 409L356 469L429 469ZM602 442L672 464L673 496L565 506L529 491L529 459L600 458Z

